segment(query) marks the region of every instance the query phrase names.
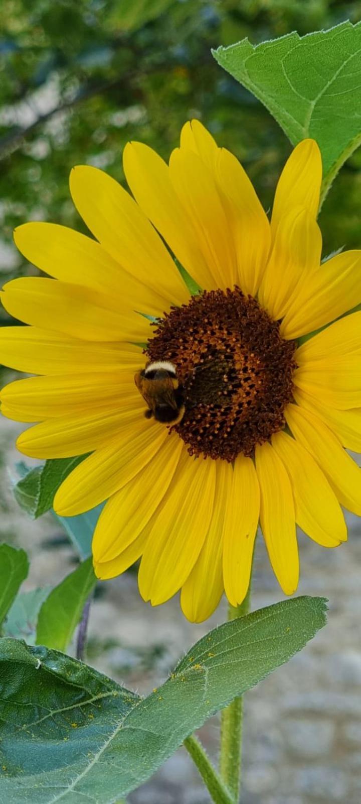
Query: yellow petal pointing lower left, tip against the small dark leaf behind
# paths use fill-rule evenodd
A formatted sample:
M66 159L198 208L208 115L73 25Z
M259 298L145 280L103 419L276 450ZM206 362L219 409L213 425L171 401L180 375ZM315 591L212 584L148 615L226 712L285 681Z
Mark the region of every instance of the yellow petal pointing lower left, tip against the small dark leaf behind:
M124 427L111 443L97 449L67 476L55 494L56 513L83 514L112 497L152 461L167 438L178 437L142 416L133 420L128 429Z

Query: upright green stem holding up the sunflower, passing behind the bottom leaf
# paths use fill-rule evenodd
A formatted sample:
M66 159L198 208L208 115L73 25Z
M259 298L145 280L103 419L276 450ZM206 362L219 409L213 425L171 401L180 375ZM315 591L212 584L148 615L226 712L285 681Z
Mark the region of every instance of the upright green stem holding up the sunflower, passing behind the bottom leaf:
M235 620L249 612L250 584L245 600L236 607L229 605L228 618ZM241 789L241 745L243 730L243 696L235 698L221 712L220 772L233 804L239 801Z

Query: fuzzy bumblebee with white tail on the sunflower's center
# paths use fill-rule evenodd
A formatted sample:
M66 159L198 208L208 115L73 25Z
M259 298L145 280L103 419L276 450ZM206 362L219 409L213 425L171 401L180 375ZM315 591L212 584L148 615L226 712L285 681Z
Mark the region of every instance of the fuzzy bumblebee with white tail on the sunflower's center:
M136 388L148 404L145 416L165 425L177 425L185 414L184 392L176 368L168 361L148 363L134 375Z

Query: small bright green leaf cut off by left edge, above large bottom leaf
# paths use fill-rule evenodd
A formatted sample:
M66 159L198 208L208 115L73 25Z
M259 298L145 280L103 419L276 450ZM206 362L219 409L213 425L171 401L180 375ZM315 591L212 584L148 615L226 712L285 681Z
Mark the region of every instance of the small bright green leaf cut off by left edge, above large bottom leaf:
M0 626L28 572L26 552L0 544Z

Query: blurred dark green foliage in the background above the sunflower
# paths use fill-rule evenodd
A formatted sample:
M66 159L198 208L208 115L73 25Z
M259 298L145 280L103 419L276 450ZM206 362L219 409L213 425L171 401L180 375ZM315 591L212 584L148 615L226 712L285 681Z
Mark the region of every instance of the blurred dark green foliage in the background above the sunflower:
M241 159L266 209L290 144L270 114L222 72L211 47L304 35L361 19L332 0L1 0L0 271L31 273L15 226L52 220L82 230L68 174L86 162L124 181L125 142L165 158L198 117ZM361 151L322 209L324 253L361 247ZM2 313L1 322L9 322Z

